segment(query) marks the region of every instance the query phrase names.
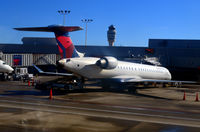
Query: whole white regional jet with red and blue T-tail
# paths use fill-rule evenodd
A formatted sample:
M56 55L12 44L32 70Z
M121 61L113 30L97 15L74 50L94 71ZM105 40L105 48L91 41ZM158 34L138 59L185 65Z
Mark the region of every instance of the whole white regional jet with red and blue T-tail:
M73 73L67 74L67 76L100 79L103 82L118 82L120 84L137 82L177 82L171 80L172 77L170 72L164 67L119 61L112 56L96 58L84 57L80 55L69 37L69 32L82 30L82 28L78 26L69 27L52 25L48 27L28 27L15 29L21 31L54 32L58 49L62 56L62 59L59 61L59 63L64 69ZM45 73L39 68L37 69L40 73ZM48 72L48 74L51 73Z

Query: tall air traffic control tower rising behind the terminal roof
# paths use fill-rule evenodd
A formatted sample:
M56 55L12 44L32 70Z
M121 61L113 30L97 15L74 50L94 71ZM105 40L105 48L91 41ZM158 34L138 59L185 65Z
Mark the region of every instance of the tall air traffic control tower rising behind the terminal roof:
M113 25L110 25L108 27L108 31L107 31L107 38L108 38L109 46L114 46L115 36L116 36L115 27Z

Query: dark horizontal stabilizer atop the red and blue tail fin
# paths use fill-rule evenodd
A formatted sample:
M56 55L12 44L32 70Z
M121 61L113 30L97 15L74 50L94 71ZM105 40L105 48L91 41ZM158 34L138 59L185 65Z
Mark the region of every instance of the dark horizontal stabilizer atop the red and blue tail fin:
M39 32L73 32L78 30L83 30L79 26L60 26L51 25L47 27L24 27L24 28L14 28L19 31L39 31Z

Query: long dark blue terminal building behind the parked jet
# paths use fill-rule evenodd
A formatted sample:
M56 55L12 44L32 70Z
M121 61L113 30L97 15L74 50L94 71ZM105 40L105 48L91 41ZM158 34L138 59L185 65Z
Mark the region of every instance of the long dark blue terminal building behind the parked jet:
M28 67L32 64L45 70L55 70L60 59L54 38L22 38L23 44L0 44L2 59L12 67ZM147 58L156 58L168 68L173 79L200 79L200 40L149 39L148 47L82 46L76 45L85 56L114 56L119 60L150 63Z

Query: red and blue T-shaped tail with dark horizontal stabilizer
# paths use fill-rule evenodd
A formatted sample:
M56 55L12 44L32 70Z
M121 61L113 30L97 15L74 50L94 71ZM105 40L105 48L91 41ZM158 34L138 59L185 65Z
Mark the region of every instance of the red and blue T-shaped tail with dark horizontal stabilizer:
M51 25L48 27L26 27L14 29L20 31L54 32L58 44L58 49L62 58L74 58L83 56L82 53L79 53L76 50L69 36L69 32L82 30L81 27Z

